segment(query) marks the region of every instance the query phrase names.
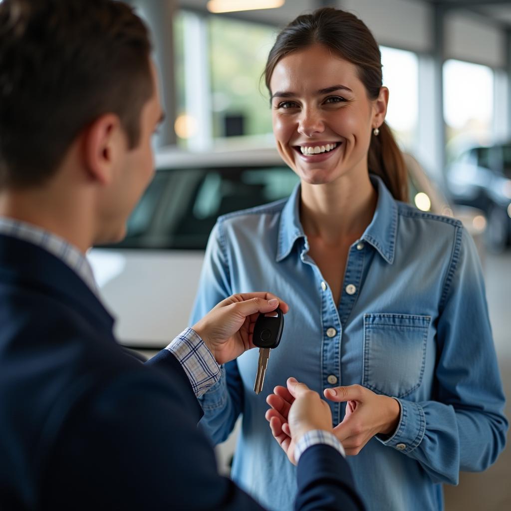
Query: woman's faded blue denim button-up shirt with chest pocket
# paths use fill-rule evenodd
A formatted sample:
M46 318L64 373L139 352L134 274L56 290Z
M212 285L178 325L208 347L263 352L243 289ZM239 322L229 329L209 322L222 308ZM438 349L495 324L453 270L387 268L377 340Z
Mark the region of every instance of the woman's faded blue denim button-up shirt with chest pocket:
M319 393L361 384L398 399L396 432L347 457L369 511L443 509L442 483L486 469L504 448L474 243L458 220L397 202L371 180L375 215L350 247L338 306L308 255L299 186L288 200L219 218L207 246L192 324L233 293L271 291L290 306L263 392L252 390L258 351L250 350L201 398L201 425L215 444L243 414L232 476L270 509L291 510L296 491L295 467L265 420L266 396L289 376ZM329 405L337 425L345 405Z

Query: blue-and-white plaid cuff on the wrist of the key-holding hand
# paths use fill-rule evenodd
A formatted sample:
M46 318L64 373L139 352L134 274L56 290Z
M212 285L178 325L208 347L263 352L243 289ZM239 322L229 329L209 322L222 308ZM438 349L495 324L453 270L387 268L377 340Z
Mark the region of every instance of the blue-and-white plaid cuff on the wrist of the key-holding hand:
M166 350L179 360L198 398L220 380L220 365L191 328L181 332Z

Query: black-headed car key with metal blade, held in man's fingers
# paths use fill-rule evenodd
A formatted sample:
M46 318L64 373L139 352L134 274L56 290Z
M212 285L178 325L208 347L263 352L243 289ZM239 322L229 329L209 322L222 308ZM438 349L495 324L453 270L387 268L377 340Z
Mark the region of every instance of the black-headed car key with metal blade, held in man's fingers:
M259 394L263 390L264 375L268 367L270 350L273 350L281 342L284 330L284 314L276 309L266 314L260 314L255 321L252 342L259 347L259 362L257 375L255 376L254 392Z

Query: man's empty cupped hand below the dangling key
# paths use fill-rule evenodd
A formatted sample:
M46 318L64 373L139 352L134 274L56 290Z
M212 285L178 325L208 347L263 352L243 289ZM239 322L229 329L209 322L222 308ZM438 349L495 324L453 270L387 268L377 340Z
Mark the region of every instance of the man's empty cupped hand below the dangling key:
M328 404L305 383L288 378L287 388L277 386L266 402L266 412L273 437L295 463L294 448L308 431L321 429L332 432L332 413Z

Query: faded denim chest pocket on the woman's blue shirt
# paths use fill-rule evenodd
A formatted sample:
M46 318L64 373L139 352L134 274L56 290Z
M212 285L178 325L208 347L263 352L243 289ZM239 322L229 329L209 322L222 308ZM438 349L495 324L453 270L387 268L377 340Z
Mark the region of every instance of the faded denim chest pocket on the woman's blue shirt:
M402 398L421 385L430 316L364 315L362 385Z

